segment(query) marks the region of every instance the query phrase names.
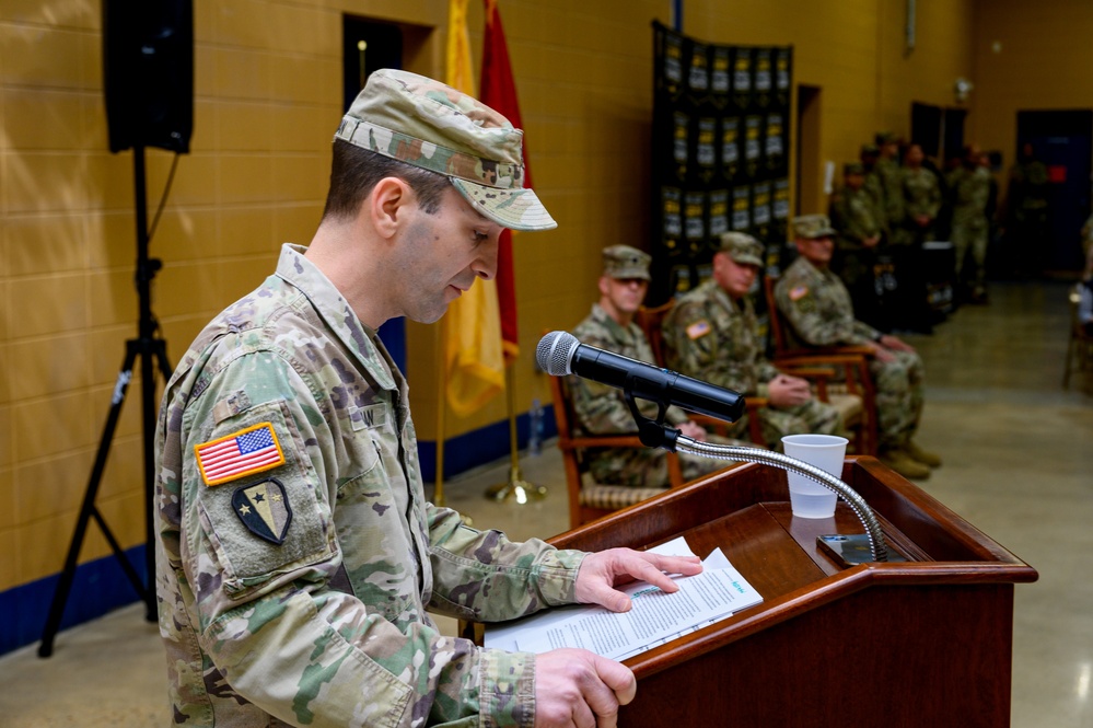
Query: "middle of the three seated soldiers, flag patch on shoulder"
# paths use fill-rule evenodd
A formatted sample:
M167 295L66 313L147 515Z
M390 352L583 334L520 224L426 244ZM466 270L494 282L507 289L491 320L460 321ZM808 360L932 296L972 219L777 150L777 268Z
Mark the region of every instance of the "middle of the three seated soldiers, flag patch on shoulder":
M778 371L766 358L747 292L763 265L763 245L739 232L721 235L713 278L679 297L664 320L666 365L683 374L745 396L766 397L759 411L765 444L781 450L786 435L841 435L841 418L812 395L809 382ZM746 437L747 416L731 434Z

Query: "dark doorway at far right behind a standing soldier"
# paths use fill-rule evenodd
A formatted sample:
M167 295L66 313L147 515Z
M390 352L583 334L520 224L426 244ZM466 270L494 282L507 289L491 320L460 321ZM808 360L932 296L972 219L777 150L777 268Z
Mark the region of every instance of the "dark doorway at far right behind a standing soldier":
M1016 150L1032 145L1047 165L1049 240L1042 253L1048 273L1081 270L1080 231L1090 215L1093 111L1018 112Z

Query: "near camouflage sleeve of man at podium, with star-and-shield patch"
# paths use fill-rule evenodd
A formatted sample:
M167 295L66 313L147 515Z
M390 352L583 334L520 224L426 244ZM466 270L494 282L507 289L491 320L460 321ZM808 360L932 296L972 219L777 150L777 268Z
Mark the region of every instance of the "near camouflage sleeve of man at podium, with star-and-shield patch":
M226 394L244 389L251 406L217 411ZM251 354L212 374L168 425L178 427L183 452L194 453L181 474L179 581L193 592L188 609L214 680L290 725L409 726L479 712L478 725L531 725L534 656L484 650L423 620L399 626L397 614L410 606L392 605L394 590L359 598L347 588L333 502L352 497L359 478L327 483L321 475L332 457L322 446L329 425L311 391L277 355ZM248 428L272 432L275 464L208 485L212 461L199 453L257 431ZM361 529L362 539L382 532ZM540 575L569 574L569 562L538 545L526 553L530 573L536 558L546 563ZM407 578L402 571L405 563L392 564L387 578ZM569 581L563 576L555 593L538 585L536 598L563 599Z

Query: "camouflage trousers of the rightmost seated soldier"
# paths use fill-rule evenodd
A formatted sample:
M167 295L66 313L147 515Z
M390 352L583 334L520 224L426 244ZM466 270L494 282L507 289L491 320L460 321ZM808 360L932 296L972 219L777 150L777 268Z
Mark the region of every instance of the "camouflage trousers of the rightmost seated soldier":
M915 351L892 354L895 361L873 359L869 365L876 390L876 436L881 451L907 444L922 415L922 359Z

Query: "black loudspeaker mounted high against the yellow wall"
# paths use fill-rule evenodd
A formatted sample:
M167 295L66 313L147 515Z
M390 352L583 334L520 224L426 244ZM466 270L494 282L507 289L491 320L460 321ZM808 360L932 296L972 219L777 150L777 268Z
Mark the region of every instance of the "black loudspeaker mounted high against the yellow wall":
M102 0L111 151L185 154L194 130L193 0Z

